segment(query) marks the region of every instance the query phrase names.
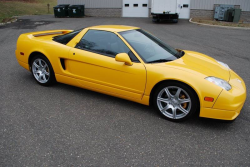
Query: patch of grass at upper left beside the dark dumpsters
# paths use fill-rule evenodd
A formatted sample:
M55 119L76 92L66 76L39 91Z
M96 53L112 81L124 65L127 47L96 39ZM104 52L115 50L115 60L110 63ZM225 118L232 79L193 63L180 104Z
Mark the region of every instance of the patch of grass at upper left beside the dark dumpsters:
M47 4L50 4L48 13ZM35 0L34 2L0 0L0 22L10 21L13 16L53 14L57 0Z

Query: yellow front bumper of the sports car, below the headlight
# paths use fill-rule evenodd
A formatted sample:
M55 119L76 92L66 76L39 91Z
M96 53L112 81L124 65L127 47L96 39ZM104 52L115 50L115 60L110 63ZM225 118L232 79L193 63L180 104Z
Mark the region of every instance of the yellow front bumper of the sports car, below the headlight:
M246 86L242 78L230 70L230 91L223 90L212 108L201 108L200 117L234 120L246 101Z

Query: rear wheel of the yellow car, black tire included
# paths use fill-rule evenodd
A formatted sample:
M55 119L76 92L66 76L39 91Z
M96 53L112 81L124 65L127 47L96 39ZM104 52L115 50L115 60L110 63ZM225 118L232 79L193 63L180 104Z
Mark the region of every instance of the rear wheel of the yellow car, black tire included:
M34 63L39 62L39 60L41 60L40 62L42 65L36 64L36 65L39 65L39 67L36 67L34 65ZM42 66L44 66L44 68ZM56 83L54 70L53 70L49 60L47 59L47 57L45 57L44 55L38 54L38 55L34 56L31 60L30 68L31 68L32 76L34 77L36 82L39 83L40 85L51 86L54 83ZM48 73L49 73L49 75L48 75ZM39 79L38 79L39 76L40 76L40 78L43 78L44 80L39 81Z

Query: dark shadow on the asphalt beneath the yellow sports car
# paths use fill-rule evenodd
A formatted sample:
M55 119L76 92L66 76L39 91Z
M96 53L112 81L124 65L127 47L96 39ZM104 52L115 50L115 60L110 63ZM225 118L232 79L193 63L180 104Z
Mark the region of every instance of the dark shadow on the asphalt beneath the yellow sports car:
M26 78L25 79L26 82L32 82L29 84L37 84L36 81L33 79L32 75L26 75L25 78ZM40 85L37 85L37 86L40 86ZM48 87L46 87L46 88L48 88ZM88 97L90 101L93 99L98 100L98 101L102 101L104 104L106 104L106 106L108 106L108 104L110 104L110 105L116 104L116 105L120 106L121 108L128 108L128 111L131 108L133 108L133 112L134 111L141 112L140 113L141 115L145 114L145 115L150 116L150 117L155 117L157 120L159 118L161 118L164 121L170 123L170 121L165 120L151 106L142 105L142 104L139 104L136 102L124 100L121 98L117 98L117 97L105 95L102 93L94 92L91 90L82 89L79 87L74 87L71 85L66 85L66 84L61 84L61 83L56 83L54 86L52 86L50 88L56 89L60 92L63 91L63 92L65 92L65 94L67 94L67 92L70 94L76 94L79 97L83 97L82 95L84 95L84 98L85 98L84 100L86 100L86 97ZM65 97L66 97L66 95L65 95ZM230 128L234 124L234 122L236 122L236 121L224 121L224 120L201 118L196 114L195 116L193 116L192 118L190 118L184 122L171 122L171 123L178 124L181 126L182 125L189 126L189 127L199 126L203 129L227 130L228 128Z

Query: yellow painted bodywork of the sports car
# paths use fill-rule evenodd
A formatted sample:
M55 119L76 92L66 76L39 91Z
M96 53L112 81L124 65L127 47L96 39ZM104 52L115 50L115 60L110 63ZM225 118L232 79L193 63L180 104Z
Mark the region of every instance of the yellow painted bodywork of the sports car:
M116 58L112 58L75 48L89 29L115 33L140 62L132 63L127 54L118 54ZM186 50L183 57L172 62L144 63L136 51L118 33L133 29L138 28L118 25L89 27L83 29L67 45L54 42L52 38L58 33L65 34L72 30L26 33L18 38L16 58L22 67L29 70L29 56L33 52L40 52L52 64L58 82L144 105L149 105L150 95L156 84L166 80L180 81L192 87L197 93L201 117L232 120L239 115L246 99L246 86L235 72L228 70L209 56ZM20 52L23 52L24 55L21 55ZM61 66L60 59L65 60L65 70ZM208 76L229 81L232 89L223 90L205 80ZM205 97L211 97L214 101L204 101Z

